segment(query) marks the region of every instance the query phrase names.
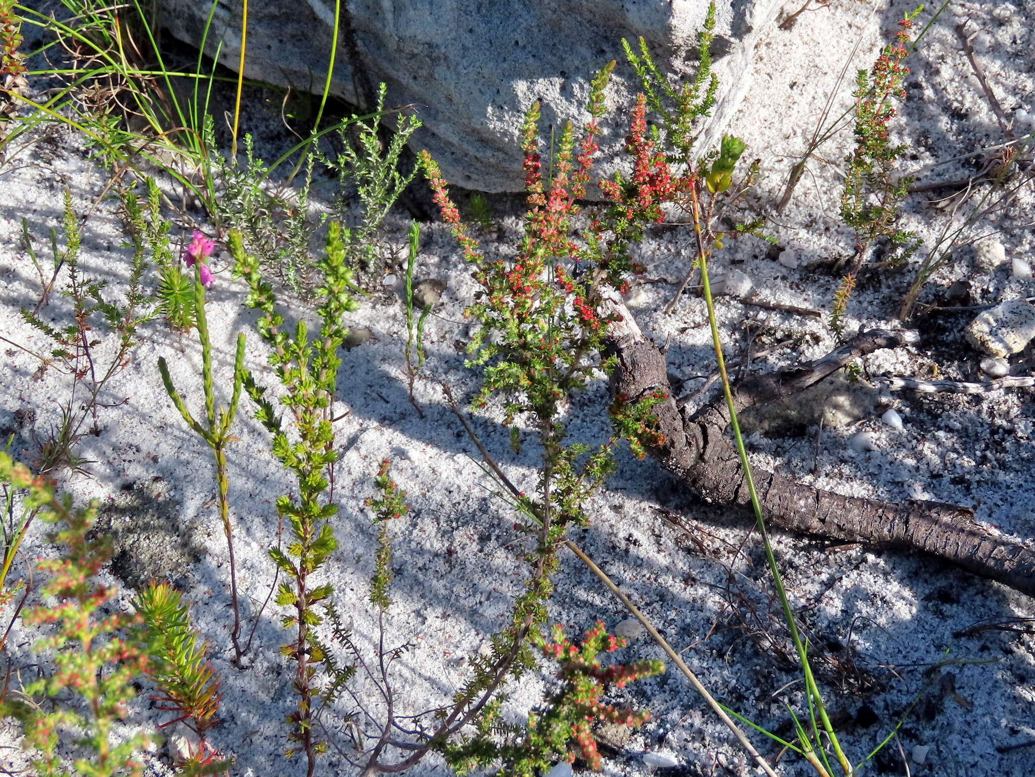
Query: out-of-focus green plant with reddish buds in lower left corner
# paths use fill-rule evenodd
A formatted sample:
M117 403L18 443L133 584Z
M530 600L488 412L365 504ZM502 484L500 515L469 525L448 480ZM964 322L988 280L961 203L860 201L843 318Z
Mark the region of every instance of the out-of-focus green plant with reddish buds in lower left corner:
M63 548L61 558L39 563L50 573L42 593L54 601L24 616L26 623L53 626L35 651L53 654L55 671L27 685L24 700L8 699L0 709L21 721L26 743L39 751L33 767L40 777L137 777L142 767L136 754L148 738L136 735L115 742L112 730L136 695L130 681L143 671L146 658L136 639L120 636L134 619L111 612L115 592L94 579L111 558L108 538L89 535L97 506L73 507L70 498L59 498L49 482L3 452L0 481L26 491L26 508L57 526L51 540ZM68 704L69 694L85 703L86 715ZM37 701L42 696L62 698L53 712L45 712ZM78 735L75 744L90 753L76 757L70 767L56 752L66 734Z

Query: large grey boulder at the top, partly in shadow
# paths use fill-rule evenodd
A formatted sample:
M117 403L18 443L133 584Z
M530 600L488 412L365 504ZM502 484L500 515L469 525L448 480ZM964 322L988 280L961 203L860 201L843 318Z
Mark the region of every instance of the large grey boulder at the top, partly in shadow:
M712 57L721 88L699 147L710 149L736 113L751 79L760 34L781 0L718 0ZM343 3L343 6L345 4ZM160 23L197 46L209 0L161 0ZM692 74L697 34L707 0L350 0L358 56L343 32L331 79L333 95L369 108L379 82L389 106L417 106L424 126L414 148L426 148L453 184L482 191L524 188L519 135L524 112L542 107L542 126L576 126L585 113L589 79L616 59L609 104L622 106L603 122L598 173L616 165L637 91L624 64L624 37L647 39L657 63L680 81ZM298 89L323 87L331 51L331 0L266 0L248 9L244 73ZM216 3L206 53L236 68L240 56L240 5ZM354 63L354 59L358 62ZM356 69L354 69L354 64ZM635 83L633 83L635 82ZM591 186L588 195L597 193Z

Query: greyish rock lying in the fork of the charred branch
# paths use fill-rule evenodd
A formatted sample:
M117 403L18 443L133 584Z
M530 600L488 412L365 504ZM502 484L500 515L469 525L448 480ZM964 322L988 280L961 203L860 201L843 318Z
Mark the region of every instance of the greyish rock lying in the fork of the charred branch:
M748 408L741 413L741 426L766 437L800 435L821 420L825 428L844 428L873 415L880 404L877 388L852 383L838 371L792 397Z

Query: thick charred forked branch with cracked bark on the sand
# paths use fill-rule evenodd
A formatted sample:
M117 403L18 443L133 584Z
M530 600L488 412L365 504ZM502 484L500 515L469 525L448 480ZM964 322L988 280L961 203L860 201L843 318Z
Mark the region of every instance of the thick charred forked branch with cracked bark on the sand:
M670 395L668 401L654 408L666 443L648 449L651 455L705 500L749 507L736 448L724 435L730 422L724 397L692 414L677 409L671 398L664 355L644 336L621 299L605 297L600 312L621 317L608 330L609 350L618 357L612 391L630 399L658 388ZM752 405L789 396L819 383L853 358L916 339L910 331L862 332L815 362L734 386L734 406L739 413ZM770 526L868 547L921 550L1035 596L1035 551L993 534L967 508L844 497L760 468L755 469L755 479Z

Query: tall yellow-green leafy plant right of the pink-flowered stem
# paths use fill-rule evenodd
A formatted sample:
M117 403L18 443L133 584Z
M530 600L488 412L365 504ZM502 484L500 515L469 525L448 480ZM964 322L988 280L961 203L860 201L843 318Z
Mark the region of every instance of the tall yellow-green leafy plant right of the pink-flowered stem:
M347 333L342 320L358 307L351 296L355 283L348 267L349 258L358 247L349 230L330 223L326 252L315 268L320 278L314 294L320 300L317 313L321 326L319 335L312 340L302 321L293 337L280 331L284 318L276 312L272 286L263 279L258 259L244 250L240 233L231 233L230 247L234 272L245 279L249 289L245 303L262 313L259 334L273 349L270 365L287 391L280 401L288 408L298 438L298 442L290 442L276 411L265 397L265 389L242 368L244 390L257 405L256 418L272 435L273 456L294 474L298 485L297 496L284 495L276 501L277 514L288 519L293 541L287 551L273 548L269 555L288 576L277 590L276 603L290 608L291 615L285 616L282 623L295 630L295 639L282 649L297 666L294 686L299 706L289 718L294 726L289 737L304 751L312 770L316 756L326 747L313 731L313 704L319 695L316 673L325 655L313 629L323 621L318 607L324 605L332 589L326 584L314 586L310 577L337 545L329 522L337 514L337 506L328 494L331 468L337 458L330 411L341 364L337 350ZM292 747L288 754L297 751Z

